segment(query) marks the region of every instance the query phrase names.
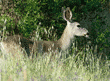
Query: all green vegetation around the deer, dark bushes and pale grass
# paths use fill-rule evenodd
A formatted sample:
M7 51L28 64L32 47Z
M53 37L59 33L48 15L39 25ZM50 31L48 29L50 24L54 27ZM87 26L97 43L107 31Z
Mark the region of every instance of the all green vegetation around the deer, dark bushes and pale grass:
M0 81L109 81L109 4L109 0L1 0L1 36L57 40L66 26L61 8L70 7L74 21L89 30L91 43L76 37L78 46L71 54L55 59L50 59L51 53L34 59L1 54ZM86 49L76 53L80 46Z

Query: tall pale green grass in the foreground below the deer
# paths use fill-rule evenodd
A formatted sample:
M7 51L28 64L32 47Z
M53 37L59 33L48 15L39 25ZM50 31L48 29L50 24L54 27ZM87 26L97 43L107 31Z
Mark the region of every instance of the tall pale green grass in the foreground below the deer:
M51 54L33 60L1 57L0 81L110 81L109 60L102 61L91 52L84 56L79 52L76 56L54 59Z

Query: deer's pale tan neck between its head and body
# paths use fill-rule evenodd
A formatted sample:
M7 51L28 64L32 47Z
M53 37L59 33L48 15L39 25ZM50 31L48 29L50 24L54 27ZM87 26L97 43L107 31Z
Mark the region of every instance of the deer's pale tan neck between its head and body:
M74 36L73 36L73 38L71 38L71 35L69 32L70 31L69 31L68 27L66 27L61 38L58 40L61 50L69 49L72 44L72 41L73 41L72 39L74 38Z

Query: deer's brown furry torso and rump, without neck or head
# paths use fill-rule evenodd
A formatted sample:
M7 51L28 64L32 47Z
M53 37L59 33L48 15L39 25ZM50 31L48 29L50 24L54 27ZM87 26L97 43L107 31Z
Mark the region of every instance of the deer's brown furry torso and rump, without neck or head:
M58 41L32 41L19 35L3 38L2 44L4 45L4 51L6 53L12 53L13 56L15 53L19 55L18 51L23 51L24 55L26 52L28 56L30 56L34 53L45 53L55 50L60 51L61 49Z

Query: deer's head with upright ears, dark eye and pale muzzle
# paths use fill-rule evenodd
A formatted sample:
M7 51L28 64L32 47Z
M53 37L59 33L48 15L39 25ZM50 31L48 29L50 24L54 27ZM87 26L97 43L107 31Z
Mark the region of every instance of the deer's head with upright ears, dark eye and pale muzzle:
M72 20L72 11L69 7L66 10L62 7L63 19L67 21L67 30L70 38L74 36L85 36L88 37L88 30L81 28L80 24L77 22L71 22Z

